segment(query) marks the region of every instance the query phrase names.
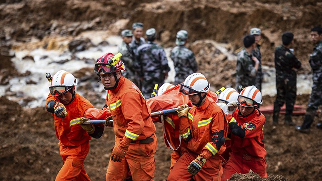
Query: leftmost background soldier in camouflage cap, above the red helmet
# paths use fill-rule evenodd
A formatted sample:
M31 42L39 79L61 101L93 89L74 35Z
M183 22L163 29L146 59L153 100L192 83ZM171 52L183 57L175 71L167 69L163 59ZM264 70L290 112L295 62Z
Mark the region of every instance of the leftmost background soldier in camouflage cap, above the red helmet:
M122 73L122 76L124 76L125 78L129 79L137 85L137 82L135 82L134 78L135 69L133 66L135 55L132 48L129 46L129 44L132 42L133 33L131 30L123 30L121 35L123 42L118 47L118 52L122 53L122 61L125 64L127 70Z

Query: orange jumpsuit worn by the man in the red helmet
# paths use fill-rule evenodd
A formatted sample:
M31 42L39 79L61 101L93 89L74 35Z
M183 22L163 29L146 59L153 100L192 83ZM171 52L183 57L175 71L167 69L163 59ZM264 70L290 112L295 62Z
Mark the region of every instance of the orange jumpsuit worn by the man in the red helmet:
M121 76L118 86L108 91L106 104L113 116L114 147L128 147L121 162L109 160L106 180L123 181L128 177L128 169L134 181L152 180L156 164L156 127L140 90Z

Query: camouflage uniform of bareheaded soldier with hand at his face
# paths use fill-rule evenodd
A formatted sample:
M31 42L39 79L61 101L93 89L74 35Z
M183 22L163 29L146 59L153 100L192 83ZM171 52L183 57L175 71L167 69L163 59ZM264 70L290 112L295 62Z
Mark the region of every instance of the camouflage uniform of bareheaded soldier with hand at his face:
M237 57L236 88L239 84L243 87L255 85L256 70L255 62L251 59L252 55L243 48Z

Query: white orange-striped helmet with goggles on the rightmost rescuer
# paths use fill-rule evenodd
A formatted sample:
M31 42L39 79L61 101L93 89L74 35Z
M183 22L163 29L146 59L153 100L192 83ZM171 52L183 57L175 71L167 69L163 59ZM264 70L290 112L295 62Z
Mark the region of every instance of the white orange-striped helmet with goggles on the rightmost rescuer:
M262 95L254 85L245 87L238 96L238 103L244 107L254 107L263 103Z

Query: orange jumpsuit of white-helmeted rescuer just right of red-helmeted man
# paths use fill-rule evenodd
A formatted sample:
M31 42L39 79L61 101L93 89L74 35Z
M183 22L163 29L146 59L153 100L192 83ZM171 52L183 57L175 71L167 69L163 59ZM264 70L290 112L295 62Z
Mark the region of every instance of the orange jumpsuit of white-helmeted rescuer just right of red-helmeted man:
M188 118L180 118L180 134L188 141L187 148L171 170L168 181L220 180L228 122L224 112L207 97L204 104L189 110ZM192 176L188 165L198 156L207 159L201 170Z

